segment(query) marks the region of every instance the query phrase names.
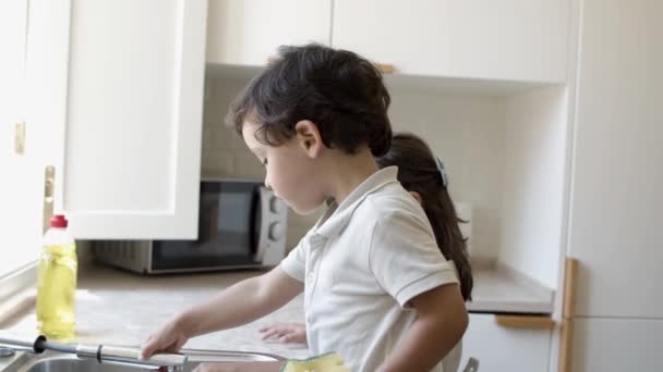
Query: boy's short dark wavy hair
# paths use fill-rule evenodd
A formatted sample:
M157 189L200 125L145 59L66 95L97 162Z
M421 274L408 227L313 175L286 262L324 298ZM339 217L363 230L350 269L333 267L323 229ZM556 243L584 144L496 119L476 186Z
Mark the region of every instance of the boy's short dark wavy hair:
M379 157L391 142L389 103L379 70L355 53L285 46L236 99L226 122L239 135L245 121L255 123L257 140L279 146L296 135L299 121L309 120L328 148L355 153L365 144Z

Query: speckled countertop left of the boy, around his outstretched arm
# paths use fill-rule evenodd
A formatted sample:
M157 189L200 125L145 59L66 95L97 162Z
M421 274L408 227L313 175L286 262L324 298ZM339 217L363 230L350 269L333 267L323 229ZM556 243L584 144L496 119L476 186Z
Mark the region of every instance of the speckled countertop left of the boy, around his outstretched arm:
M142 276L105 266L80 275L76 292L76 340L138 346L173 314L209 298L258 271L195 275ZM221 311L221 309L219 309ZM297 297L276 312L241 327L194 337L184 346L194 349L268 352L286 358L309 356L305 346L263 342L258 330L275 322L303 319L303 298ZM19 319L9 332L34 336L34 311Z

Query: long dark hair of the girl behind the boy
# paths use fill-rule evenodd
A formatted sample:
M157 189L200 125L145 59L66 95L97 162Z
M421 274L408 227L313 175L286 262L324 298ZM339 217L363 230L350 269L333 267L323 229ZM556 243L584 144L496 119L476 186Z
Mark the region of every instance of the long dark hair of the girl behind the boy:
M377 159L378 166L398 166L398 181L408 191L417 191L423 210L431 221L437 246L447 260L454 261L460 281L462 298L472 299L472 268L467 255L467 239L460 233L459 223L467 223L456 215L456 209L444 185L437 162L429 146L412 134L397 134L389 151Z

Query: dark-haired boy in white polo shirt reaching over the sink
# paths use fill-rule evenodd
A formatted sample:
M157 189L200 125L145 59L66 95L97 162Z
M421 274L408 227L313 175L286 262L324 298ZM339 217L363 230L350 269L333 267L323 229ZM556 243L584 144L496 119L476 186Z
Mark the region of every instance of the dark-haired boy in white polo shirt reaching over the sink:
M279 266L177 315L148 339L145 357L249 323L304 292L314 355L337 351L352 371L442 371L468 315L421 206L396 168L377 169L391 139L389 100L381 73L352 52L281 48L229 122L265 165L265 185L296 212L328 209Z

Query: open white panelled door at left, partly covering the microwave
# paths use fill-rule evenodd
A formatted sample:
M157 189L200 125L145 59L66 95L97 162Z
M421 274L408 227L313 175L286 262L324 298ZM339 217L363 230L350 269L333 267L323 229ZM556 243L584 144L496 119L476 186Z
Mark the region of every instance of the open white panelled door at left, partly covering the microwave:
M207 1L31 8L32 119L48 123L43 151L72 234L195 238Z

